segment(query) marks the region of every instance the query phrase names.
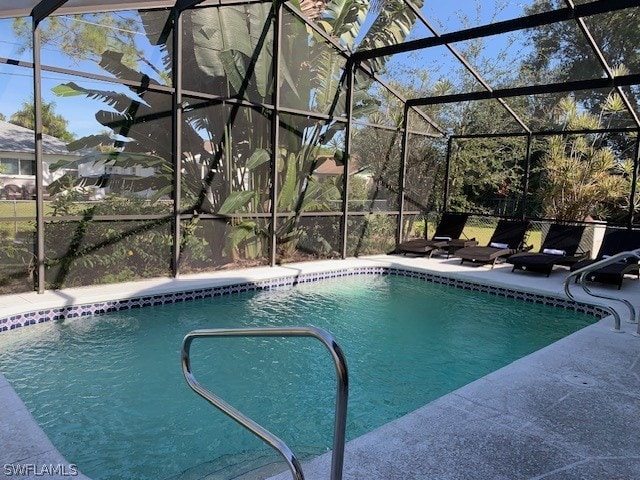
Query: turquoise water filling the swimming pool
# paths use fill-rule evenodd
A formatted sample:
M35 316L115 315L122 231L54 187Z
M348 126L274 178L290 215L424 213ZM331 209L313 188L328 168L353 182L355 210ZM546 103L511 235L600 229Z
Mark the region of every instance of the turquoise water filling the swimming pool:
M358 276L21 328L0 335L0 370L62 454L96 480L216 469L232 478L235 463L279 458L186 386L180 345L191 330L331 332L349 365L351 439L593 321L416 279ZM330 449L335 370L319 342L196 340L192 358L201 383L303 458Z

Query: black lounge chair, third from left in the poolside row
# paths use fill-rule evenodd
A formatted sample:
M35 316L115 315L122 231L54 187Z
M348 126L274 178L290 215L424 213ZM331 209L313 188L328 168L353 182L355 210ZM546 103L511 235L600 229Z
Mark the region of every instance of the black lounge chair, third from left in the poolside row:
M512 271L539 272L548 277L556 265L570 267L587 256L588 252L577 253L583 233L584 226L553 223L539 252L515 253L507 263L513 265Z

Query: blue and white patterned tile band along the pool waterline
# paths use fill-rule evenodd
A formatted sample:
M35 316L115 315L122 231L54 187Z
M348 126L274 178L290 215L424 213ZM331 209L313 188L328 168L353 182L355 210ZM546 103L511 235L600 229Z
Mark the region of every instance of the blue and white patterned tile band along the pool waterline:
M218 297L234 293L250 292L257 290L271 290L274 288L291 287L302 283L312 283L330 278L352 277L357 275L395 275L400 277L410 277L426 282L448 285L463 290L485 292L499 297L512 298L525 302L549 305L567 310L592 315L603 318L610 313L604 308L596 305L574 302L569 299L558 298L551 295L525 292L522 290L512 290L494 285L483 285L456 278L445 277L433 273L408 270L396 267L352 267L344 269L334 269L318 273L303 273L299 275L289 275L268 280L249 281L223 286L198 288L172 293L160 293L156 295L144 295L140 297L125 298L122 300L109 300L79 305L68 305L53 307L42 310L35 310L24 313L17 313L8 317L0 318L0 332L15 330L16 328L36 325L38 323L52 320L65 320L69 318L86 317L106 312L116 312L119 310L131 310L154 305L165 305L168 303L185 302L201 298Z

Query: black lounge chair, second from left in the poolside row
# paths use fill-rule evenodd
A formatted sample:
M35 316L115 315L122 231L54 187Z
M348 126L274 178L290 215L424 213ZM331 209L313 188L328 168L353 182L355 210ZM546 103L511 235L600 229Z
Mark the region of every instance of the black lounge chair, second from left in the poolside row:
M461 264L465 261L490 263L493 268L499 258L513 255L522 249L528 228L527 220L500 220L486 247L465 247L457 250L454 255L460 258Z

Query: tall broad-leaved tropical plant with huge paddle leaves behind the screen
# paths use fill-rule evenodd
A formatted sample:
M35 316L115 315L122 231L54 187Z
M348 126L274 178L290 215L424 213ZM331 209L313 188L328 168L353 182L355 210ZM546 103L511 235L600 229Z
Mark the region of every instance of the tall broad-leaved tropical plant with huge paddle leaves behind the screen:
M294 5L297 4L294 2ZM297 6L313 12L308 14L317 18L318 26L348 48L355 47L371 8L369 1L362 0L336 0L320 9L318 4L309 9L305 2ZM184 88L255 105L229 105L197 96L184 100L185 121L180 126L184 210L246 214L244 219L229 220L231 231L213 228L212 222L209 222L211 228L204 226L208 243L219 257L228 256L239 247L244 248L245 254L249 251L251 255L264 254L268 243L264 242L266 229L251 217L253 213L270 211L273 203L269 198L269 159L274 153L269 145L271 113L259 106L271 103L275 87L271 70L273 17L271 3L200 8L183 14ZM104 18L102 21L106 22ZM402 2L386 2L360 45L369 48L398 43L406 37L414 21L415 14ZM141 25L151 44L161 46L165 66L171 63L171 49L163 43L166 36L158 32L157 26L169 23L168 11L140 11L139 21L128 27L131 30ZM60 23L55 27L61 28ZM72 29L68 28L60 38L67 38L70 33ZM75 40L86 36L90 36L90 32L83 30L82 36L70 37L66 42L79 45ZM43 38L53 39L53 35ZM131 94L124 95L69 82L54 91L61 97L84 95L109 105L111 109L99 111L96 118L113 132L110 141L117 151L109 154L110 164L132 166L154 161L159 173L153 187L160 197L170 192L172 186L169 161L172 152L166 134L171 131L171 116L166 114L171 111L171 96L153 87L160 86L158 82L168 75L155 78L144 75L141 67L146 68L148 62L139 57L140 49L132 52L127 48L125 40L114 36L108 43L98 45L100 48L92 41L91 55L86 57L82 51L69 50L69 53L82 58L97 57L100 67L119 79L137 82L142 78L142 87L131 87ZM341 114L345 60L332 46L321 36L310 34L304 22L287 15L279 53L281 97L287 106L300 111ZM384 63L385 59L379 59L372 65L379 69ZM376 102L366 94L371 79L360 74L357 84L355 108L377 108ZM311 175L320 149L342 128L344 124L339 122L327 124L302 116L281 116L280 151L277 152L280 189L275 201L278 211L292 215L277 225L279 243L295 245L302 233L301 214L305 210L327 209L323 202L337 195L335 189L319 188ZM108 136L95 135L79 139L70 147L96 147L107 142ZM142 185L129 188L142 189Z

